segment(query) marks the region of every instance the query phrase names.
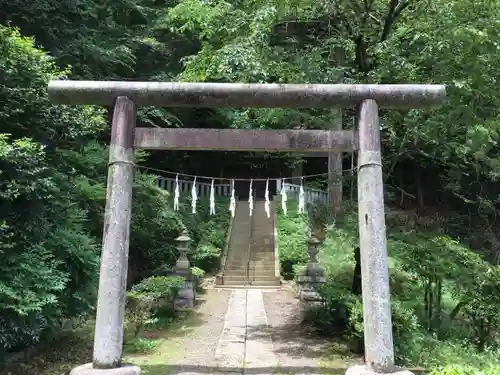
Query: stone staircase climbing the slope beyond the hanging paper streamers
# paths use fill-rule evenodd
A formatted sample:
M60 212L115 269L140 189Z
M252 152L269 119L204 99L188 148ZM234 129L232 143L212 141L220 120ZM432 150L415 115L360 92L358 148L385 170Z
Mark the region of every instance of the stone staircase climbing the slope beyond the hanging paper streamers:
M274 205L271 202L271 215ZM236 202L229 250L220 286L279 286L275 274L273 216L268 218L263 201L254 202L249 215L248 202Z

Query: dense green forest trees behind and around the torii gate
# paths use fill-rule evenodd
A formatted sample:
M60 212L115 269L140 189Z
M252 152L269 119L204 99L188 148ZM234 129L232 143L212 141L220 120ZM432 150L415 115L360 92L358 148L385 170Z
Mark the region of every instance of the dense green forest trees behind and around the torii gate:
M52 105L50 79L446 84L439 109L382 111L387 202L417 230L470 248L491 266L478 272L498 278L499 34L500 2L485 0L0 0L0 353L33 345L95 303L110 108ZM334 111L138 116L141 126L330 128ZM351 128L354 111L342 117ZM278 160L287 168L299 159ZM137 162L213 174L224 156L141 152ZM147 169L134 194L129 284L172 265L184 228L196 265L210 270L219 255L203 240L210 220L174 212ZM475 317L489 331L479 349L489 350L500 301L482 296Z

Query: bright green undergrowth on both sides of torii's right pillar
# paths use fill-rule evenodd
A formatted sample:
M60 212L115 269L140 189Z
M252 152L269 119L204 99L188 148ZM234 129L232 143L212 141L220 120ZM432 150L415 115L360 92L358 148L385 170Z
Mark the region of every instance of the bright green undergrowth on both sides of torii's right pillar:
M333 219L318 206L310 207L309 215L290 206L286 216L278 210L279 255L289 278L290 264L298 269L307 261L308 236L323 232L324 237L319 254L327 277L320 290L324 302L306 319L320 334L341 337L361 354L363 310L354 288L357 209L347 203ZM387 227L398 363L425 367L433 375L500 374L494 365L500 354L499 268L442 231L401 220L397 212L388 212ZM453 366L440 368L445 364Z

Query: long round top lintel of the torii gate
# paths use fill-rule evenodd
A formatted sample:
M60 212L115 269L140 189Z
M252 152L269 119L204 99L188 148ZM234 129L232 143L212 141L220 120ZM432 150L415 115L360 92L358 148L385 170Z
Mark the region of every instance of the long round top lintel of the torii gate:
M249 84L135 81L51 81L56 104L112 105L129 97L137 106L158 107L353 107L373 99L380 107L419 108L440 105L444 85Z

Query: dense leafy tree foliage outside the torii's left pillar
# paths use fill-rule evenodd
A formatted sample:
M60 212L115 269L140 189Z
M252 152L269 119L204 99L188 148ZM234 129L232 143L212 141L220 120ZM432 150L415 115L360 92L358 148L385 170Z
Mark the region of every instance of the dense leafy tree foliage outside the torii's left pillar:
M0 26L2 276L1 350L36 342L61 319L91 308L98 247L76 188L58 166L57 147L102 129L102 112L56 107L47 82L63 77L18 31ZM29 131L28 131L29 129ZM27 137L29 136L29 138Z

